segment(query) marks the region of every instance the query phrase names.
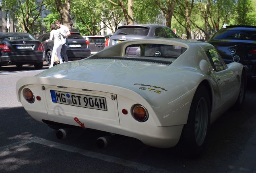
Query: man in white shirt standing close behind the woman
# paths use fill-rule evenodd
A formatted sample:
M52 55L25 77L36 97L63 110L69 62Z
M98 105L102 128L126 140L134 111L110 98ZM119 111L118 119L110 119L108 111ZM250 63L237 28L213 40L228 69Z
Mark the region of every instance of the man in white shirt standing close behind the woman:
M68 46L68 36L71 35L70 31L68 27L64 26L60 20L56 20L54 23L59 28L63 38L66 40L66 43L62 44L61 54L64 56L65 62L68 62L67 46Z

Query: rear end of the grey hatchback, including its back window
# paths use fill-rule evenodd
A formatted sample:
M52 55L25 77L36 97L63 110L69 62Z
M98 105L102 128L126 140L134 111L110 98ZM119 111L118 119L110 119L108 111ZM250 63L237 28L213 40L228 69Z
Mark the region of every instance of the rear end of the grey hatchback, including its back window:
M141 26L141 25L119 26L118 30L116 30L113 36L111 36L110 38L107 38L105 42L105 47L112 46L124 40L146 38L149 34L149 30L150 30L149 26Z

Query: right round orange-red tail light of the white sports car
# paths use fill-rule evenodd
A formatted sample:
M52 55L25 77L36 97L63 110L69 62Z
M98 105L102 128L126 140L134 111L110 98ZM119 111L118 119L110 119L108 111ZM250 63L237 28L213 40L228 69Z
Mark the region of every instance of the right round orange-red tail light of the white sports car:
M132 116L139 122L145 122L149 118L149 113L142 105L134 105L132 107Z

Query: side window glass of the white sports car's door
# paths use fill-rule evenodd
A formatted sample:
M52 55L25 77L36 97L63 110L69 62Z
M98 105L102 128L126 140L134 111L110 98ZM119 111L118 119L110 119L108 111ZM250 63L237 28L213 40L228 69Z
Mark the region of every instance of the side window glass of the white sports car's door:
M208 58L215 71L221 71L227 68L226 64L223 62L223 60L219 56L217 50L209 49L206 51L206 54L208 55Z

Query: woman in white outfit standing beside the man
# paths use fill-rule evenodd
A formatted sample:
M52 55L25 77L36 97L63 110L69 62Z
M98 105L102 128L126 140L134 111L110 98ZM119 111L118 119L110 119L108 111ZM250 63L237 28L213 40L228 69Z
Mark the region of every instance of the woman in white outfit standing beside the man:
M62 42L61 42L61 37L60 37L60 30L58 30L55 26L55 24L51 24L50 27L50 38L45 40L46 42L50 40L54 40L54 47L52 48L52 58L51 58L51 64L49 68L53 67L54 64L54 57L57 54L60 64L63 63L62 57L60 55L61 47L62 47Z

